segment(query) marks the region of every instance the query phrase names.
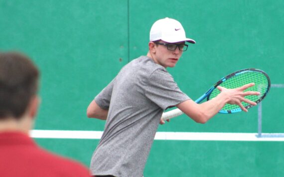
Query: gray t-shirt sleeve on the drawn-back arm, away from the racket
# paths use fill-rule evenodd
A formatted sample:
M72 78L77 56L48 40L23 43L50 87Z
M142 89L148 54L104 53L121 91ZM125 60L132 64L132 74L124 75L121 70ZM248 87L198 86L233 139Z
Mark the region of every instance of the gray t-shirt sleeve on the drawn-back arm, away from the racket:
M115 78L96 97L95 102L105 110L110 107Z

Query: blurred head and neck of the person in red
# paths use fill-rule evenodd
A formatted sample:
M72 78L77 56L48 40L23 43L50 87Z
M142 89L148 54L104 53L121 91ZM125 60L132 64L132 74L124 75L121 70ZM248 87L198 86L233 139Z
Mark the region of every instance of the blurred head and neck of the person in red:
M38 78L27 56L0 52L0 130L31 129L39 104Z

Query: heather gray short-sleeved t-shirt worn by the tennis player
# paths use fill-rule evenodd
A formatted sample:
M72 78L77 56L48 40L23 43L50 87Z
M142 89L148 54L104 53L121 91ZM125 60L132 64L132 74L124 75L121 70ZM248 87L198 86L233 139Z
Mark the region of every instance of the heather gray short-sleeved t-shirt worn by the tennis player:
M124 66L96 97L108 109L93 175L142 177L163 110L190 99L159 64L141 56Z

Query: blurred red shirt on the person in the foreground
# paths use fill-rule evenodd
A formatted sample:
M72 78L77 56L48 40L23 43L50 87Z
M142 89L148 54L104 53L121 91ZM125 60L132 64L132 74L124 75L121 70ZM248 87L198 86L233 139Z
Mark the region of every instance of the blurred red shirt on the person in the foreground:
M86 167L39 148L23 133L0 133L1 177L90 177Z

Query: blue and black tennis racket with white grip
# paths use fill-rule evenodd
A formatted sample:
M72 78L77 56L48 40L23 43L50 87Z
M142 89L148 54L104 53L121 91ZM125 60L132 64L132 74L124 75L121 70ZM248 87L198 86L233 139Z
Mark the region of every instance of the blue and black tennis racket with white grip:
M216 82L206 93L199 97L195 102L200 103L205 98L207 98L207 101L215 98L220 93L220 91L216 88L217 86L222 86L228 89L234 89L249 83L255 83L255 85L246 89L246 91L257 91L260 92L260 95L248 95L245 96L245 98L256 103L261 102L267 96L270 90L270 78L264 71L254 68L242 69L223 77L218 82ZM242 105L246 109L249 109L254 106L246 102L242 102ZM242 109L238 105L226 104L219 111L219 113L229 114L241 111ZM164 112L162 114L162 120L165 121L167 119L171 119L182 114L183 112L181 110L174 109L168 112Z

